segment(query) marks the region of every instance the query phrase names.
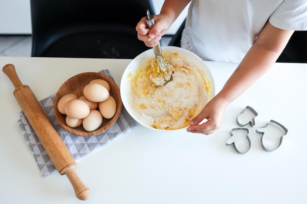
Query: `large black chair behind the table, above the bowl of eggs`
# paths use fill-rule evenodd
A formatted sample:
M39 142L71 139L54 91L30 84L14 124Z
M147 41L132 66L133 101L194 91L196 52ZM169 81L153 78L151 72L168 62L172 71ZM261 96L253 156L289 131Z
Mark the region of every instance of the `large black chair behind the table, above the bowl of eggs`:
M30 0L32 57L132 59L149 49L135 30L152 0Z

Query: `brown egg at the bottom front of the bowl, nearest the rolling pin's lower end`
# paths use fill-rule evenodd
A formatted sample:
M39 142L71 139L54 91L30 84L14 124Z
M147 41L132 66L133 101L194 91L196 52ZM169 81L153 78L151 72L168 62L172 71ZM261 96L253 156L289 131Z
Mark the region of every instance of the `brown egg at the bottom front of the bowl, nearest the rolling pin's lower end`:
M88 132L97 130L101 124L102 114L97 110L91 110L88 116L86 116L82 121L84 130Z

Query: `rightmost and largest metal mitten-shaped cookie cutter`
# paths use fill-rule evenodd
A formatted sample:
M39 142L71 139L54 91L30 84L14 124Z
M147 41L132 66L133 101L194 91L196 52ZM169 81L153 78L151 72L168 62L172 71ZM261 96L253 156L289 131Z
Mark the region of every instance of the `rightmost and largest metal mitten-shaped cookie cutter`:
M264 142L263 142L263 137L266 136L266 130L265 129L267 129L268 127L275 128L274 131L281 130L281 136L280 136L279 144L275 149L270 149L270 148L266 147ZM269 132L269 131L267 131L267 132ZM276 122L275 120L270 120L266 124L266 126L257 128L255 130L255 133L261 134L260 144L261 144L262 149L267 151L267 152L272 152L272 151L278 149L281 146L282 138L283 138L283 136L285 136L288 133L288 130L283 125L281 125L279 122Z

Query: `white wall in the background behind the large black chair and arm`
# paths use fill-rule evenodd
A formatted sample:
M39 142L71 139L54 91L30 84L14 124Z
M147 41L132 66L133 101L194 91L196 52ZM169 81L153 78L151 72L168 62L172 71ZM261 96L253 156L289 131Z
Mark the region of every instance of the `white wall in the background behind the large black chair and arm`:
M153 0L158 14L164 0ZM31 34L30 0L0 0L0 34ZM175 34L187 14L187 8L171 26L168 34Z

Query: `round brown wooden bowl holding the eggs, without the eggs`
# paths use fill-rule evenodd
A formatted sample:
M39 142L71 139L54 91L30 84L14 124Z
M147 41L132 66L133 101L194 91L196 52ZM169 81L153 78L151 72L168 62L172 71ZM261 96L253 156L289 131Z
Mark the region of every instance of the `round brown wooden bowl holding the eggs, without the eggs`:
M65 118L66 115L60 113L57 110L57 103L60 100L60 98L68 93L75 93L78 97L83 95L83 88L93 79L103 79L110 85L110 95L114 97L116 100L116 113L115 115L110 118L102 119L102 125L95 131L88 132L84 130L83 126L79 126L77 128L71 128L69 127L66 122ZM85 72L77 74L70 79L68 79L57 91L55 98L54 98L54 113L55 117L58 120L59 124L69 133L72 133L77 136L96 136L98 134L103 133L104 131L108 130L117 120L119 117L121 111L122 111L122 99L120 95L120 91L118 86L115 84L115 82L107 77L106 75L103 75L101 73L97 72Z

